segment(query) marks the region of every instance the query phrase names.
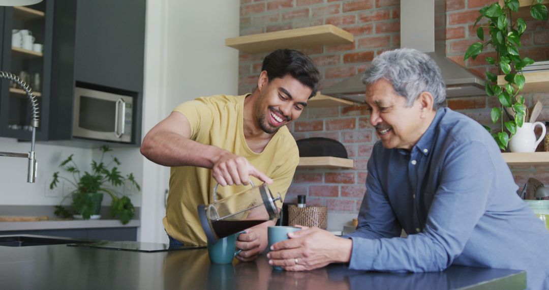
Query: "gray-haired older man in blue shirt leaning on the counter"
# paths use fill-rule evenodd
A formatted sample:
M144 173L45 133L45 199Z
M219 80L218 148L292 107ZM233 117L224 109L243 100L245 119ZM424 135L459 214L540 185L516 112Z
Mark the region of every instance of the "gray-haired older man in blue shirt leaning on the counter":
M549 231L517 196L500 149L478 122L449 108L440 69L426 54L380 54L363 76L380 141L368 161L356 232L317 228L273 245L272 265L333 262L376 271L442 271L450 265L526 270L549 289ZM401 230L408 233L401 238Z

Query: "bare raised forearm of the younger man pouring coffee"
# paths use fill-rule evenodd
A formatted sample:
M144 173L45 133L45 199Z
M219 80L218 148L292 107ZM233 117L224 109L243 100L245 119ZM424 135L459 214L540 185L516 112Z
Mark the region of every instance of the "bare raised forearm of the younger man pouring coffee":
M154 163L164 166L199 166L211 169L216 160L227 151L165 131L146 136L141 153Z

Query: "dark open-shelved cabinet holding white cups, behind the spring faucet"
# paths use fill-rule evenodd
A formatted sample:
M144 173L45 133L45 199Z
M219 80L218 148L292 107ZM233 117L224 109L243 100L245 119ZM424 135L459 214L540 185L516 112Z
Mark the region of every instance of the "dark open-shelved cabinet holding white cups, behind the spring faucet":
M47 140L54 0L25 7L0 8L0 70L25 76L38 104L36 140ZM12 43L12 30L29 30L42 52ZM33 80L37 80L36 82ZM0 136L30 140L31 105L19 86L0 80Z

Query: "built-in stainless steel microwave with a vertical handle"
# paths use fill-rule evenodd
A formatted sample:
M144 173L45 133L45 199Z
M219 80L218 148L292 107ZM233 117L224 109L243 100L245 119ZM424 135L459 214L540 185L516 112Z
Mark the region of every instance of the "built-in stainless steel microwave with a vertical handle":
M76 87L72 136L131 142L133 97Z

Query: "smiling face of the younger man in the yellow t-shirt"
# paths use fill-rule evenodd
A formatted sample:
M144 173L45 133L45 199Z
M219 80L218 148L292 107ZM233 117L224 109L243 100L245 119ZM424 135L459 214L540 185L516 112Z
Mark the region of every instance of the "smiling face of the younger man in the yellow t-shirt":
M269 134L298 119L312 92L310 87L291 75L277 77L268 82L264 71L261 72L259 82L260 92L254 105L254 119L261 130Z

